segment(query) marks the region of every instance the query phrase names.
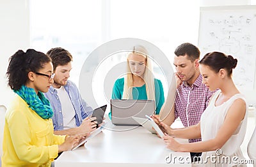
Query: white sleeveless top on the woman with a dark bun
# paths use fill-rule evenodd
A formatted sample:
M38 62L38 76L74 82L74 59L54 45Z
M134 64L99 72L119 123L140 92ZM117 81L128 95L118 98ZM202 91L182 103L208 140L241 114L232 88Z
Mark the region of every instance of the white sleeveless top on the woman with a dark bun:
M200 129L201 129L202 141L215 138L221 125L223 125L228 109L236 99L243 99L244 102L246 102L244 95L239 93L232 96L230 99L228 99L226 102L224 102L220 106L215 106L216 99L220 95L220 93L221 93L221 90L218 90L216 91L216 93L214 93L209 106L205 109L204 113L201 116ZM241 152L240 146L243 143L243 139L246 133L247 115L248 115L248 107L246 104L246 113L244 115L244 119L241 121L239 127L237 127L234 134L232 134L232 136L223 145L223 147L221 147L222 154L220 156L216 155L215 151L202 153L202 158L204 161L205 161L205 158L207 158L207 156L210 157L211 155L213 155L216 157L221 157L221 156L230 157L231 163L223 164L223 163L208 162L207 166L241 166L234 163L232 164L232 157L236 156L239 159L245 159L243 156L243 153ZM239 159L238 160L236 159L236 160L239 162Z

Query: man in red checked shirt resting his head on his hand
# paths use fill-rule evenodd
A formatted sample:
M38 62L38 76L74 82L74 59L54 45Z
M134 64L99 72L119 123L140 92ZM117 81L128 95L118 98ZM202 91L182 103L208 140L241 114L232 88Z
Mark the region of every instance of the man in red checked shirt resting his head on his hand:
M163 105L160 111L160 118L167 125L172 125L174 120L179 117L184 127L188 127L200 122L201 115L207 107L214 91L210 91L202 83L198 63L200 51L195 45L189 43L181 44L174 53L173 64L176 68L175 77L177 86L175 102L174 105L167 104L168 100L166 100L165 104L167 106L165 104ZM169 90L168 96L169 94L173 96L173 93ZM200 140L189 139L189 143ZM195 155L198 156L200 153L191 153L192 160Z

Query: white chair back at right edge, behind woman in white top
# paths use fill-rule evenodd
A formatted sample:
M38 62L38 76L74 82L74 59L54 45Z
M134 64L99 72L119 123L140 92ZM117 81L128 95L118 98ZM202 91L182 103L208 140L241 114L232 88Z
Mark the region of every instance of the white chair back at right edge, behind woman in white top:
M252 133L252 137L248 143L247 153L250 159L253 159L253 166L256 166L256 127Z

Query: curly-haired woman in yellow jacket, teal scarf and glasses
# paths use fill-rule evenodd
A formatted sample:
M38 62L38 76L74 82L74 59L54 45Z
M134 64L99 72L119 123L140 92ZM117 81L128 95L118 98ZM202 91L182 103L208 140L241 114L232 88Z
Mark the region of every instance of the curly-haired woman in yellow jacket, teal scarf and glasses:
M53 134L47 92L53 83L51 58L33 49L10 58L8 85L15 97L6 112L2 166L51 166L58 153L75 147L82 136Z

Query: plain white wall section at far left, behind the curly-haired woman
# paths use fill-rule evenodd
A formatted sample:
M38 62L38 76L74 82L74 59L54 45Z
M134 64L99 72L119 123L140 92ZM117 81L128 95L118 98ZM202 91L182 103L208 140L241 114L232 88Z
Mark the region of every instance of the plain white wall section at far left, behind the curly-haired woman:
M8 106L12 91L7 87L8 58L29 47L29 1L0 0L0 104Z

